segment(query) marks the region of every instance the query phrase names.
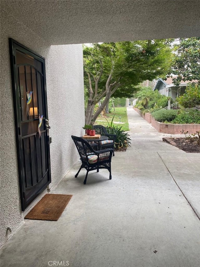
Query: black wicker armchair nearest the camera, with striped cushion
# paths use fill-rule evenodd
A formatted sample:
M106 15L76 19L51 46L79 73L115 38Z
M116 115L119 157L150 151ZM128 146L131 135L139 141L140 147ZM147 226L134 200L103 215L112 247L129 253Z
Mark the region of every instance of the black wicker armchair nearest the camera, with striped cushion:
M71 137L76 145L76 148L78 150L78 153L81 157L80 159L82 162L82 165L80 169L78 170L77 174L75 175L75 177L78 176L82 168L85 168L87 173L86 173L86 177L83 183L86 184L88 172L93 171L93 170L97 170L97 172L99 172L99 169L107 169L110 172L109 179L111 180L112 179L111 158L113 154L113 149L108 148L108 149L96 151L83 138L73 136L73 135Z

